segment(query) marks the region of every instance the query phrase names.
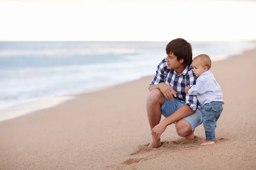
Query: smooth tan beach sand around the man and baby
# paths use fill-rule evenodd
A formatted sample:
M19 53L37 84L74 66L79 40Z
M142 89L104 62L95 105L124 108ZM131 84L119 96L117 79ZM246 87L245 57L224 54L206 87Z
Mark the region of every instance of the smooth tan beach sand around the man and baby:
M0 122L0 170L256 170L255 56L212 64L225 101L214 145L199 146L203 125L192 142L169 125L161 147L147 148L149 76Z

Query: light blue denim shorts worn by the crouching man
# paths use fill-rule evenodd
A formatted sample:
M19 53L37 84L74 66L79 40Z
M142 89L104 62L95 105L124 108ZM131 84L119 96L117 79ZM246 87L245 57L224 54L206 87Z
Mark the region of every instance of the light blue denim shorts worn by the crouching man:
M161 106L161 113L163 116L169 117L183 105L185 105L185 101L183 101L183 100L165 99L164 104ZM195 113L193 113L192 115L184 117L183 119L185 119L186 121L188 121L190 123L192 131L194 131L195 127L198 127L198 125L201 125L203 122L203 118L202 118L202 115L201 115L201 112L199 111L199 109L197 109L195 111Z

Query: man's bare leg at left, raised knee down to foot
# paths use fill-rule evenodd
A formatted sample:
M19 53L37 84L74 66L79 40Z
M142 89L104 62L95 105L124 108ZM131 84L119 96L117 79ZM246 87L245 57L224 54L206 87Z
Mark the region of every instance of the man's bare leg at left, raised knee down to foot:
M150 129L152 130L161 120L161 105L165 102L165 97L159 89L149 92L147 98L147 113ZM152 136L152 142L148 147L156 148L160 144L160 139Z

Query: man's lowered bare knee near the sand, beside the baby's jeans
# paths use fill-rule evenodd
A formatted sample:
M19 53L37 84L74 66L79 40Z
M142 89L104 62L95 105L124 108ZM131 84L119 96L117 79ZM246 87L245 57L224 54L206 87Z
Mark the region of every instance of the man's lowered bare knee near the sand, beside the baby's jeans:
M186 137L192 133L191 125L185 119L181 119L175 123L176 131L179 136Z

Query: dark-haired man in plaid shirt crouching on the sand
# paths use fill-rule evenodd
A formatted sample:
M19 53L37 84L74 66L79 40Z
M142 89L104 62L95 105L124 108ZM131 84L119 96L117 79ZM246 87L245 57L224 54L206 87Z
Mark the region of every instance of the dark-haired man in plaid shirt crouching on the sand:
M148 147L151 148L160 145L161 134L172 123L184 140L194 139L195 127L202 123L196 96L185 92L186 86L195 85L197 79L191 65L191 44L181 38L172 40L166 46L166 54L148 87L147 113L152 134ZM160 122L161 113L166 118Z

